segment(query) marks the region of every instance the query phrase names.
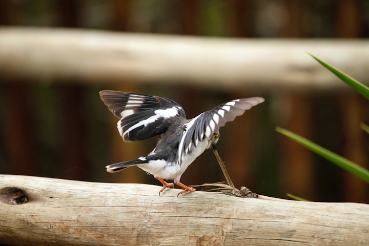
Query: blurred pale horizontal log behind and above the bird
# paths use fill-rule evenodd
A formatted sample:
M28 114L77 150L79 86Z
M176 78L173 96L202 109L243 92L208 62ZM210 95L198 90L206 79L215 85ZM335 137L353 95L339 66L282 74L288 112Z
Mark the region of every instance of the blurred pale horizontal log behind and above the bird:
M247 39L83 29L0 29L3 78L197 85L215 89L346 88L310 52L367 83L366 39Z

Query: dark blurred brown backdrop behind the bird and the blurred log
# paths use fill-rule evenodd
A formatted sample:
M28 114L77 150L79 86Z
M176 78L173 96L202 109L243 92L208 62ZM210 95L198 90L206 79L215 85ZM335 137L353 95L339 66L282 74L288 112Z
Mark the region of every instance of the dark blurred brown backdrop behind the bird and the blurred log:
M357 0L13 0L0 2L0 25L239 38L367 38L367 13L369 1ZM0 173L160 185L136 167L105 171L110 163L146 155L156 139L123 142L118 119L98 91L169 97L191 118L227 100L263 96L262 105L220 130L217 148L236 187L281 198L292 193L315 201L369 202L364 181L274 130L289 129L369 168L368 135L360 130L361 122L368 124L368 104L351 88L219 90L180 79L175 85L144 86L120 78L104 84L26 80L0 74ZM181 179L186 185L221 180L212 151L197 158Z

